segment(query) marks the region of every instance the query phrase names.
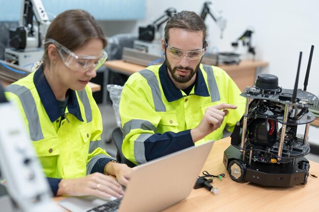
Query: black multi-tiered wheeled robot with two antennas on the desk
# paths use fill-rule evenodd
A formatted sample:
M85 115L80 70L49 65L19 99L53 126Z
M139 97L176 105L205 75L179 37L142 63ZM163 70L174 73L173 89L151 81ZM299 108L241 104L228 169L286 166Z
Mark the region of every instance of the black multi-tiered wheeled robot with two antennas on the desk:
M298 89L302 52L294 89L278 86L278 77L260 74L253 87L241 96L247 99L246 112L231 134L223 163L232 180L263 186L290 187L307 184L310 152L309 125L315 119L308 110L318 98L307 92L313 54L311 47L304 89ZM304 135L297 127L305 125Z

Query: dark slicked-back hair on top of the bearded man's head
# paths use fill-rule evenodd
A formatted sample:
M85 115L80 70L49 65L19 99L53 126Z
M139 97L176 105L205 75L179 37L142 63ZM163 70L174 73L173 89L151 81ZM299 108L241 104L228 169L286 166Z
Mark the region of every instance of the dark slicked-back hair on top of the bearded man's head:
M202 32L203 42L206 39L207 27L204 20L191 11L181 11L175 13L168 21L165 26L164 39L169 40L169 30L171 28L181 28L189 32Z

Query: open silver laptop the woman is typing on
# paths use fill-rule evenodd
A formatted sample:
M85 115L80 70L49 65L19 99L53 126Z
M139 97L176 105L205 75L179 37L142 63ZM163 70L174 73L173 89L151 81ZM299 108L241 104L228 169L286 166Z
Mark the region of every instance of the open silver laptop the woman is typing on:
M214 141L189 147L135 167L118 210L149 212L163 210L187 198L195 186ZM108 200L93 196L68 197L59 204L72 212L92 210ZM114 202L114 201L111 201ZM110 203L111 203L110 202ZM107 204L105 204L106 207Z

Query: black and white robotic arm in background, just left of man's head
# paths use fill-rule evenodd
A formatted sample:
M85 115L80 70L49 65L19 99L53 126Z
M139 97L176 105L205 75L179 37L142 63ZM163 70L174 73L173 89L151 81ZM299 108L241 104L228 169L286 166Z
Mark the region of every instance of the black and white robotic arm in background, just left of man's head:
M153 41L158 28L176 13L176 9L168 8L165 14L146 27L139 27L139 40Z

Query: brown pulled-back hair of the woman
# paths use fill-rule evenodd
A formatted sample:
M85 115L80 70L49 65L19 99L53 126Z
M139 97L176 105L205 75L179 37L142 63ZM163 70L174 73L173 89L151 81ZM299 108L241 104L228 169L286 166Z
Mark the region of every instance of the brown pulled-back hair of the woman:
M81 48L89 40L97 38L107 46L107 40L94 17L84 10L67 10L59 14L49 25L45 39L53 39L71 51ZM50 65L48 45L44 45L43 64Z

